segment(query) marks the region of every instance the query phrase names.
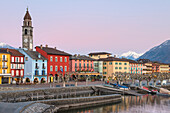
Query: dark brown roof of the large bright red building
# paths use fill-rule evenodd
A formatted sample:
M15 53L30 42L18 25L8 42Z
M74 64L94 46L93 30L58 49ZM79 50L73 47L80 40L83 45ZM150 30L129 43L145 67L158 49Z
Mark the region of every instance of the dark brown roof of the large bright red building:
M49 48L49 47L40 47L40 46L37 46L38 48L42 49L43 51L45 51L47 54L51 54L51 55L64 55L64 56L72 56L71 54L69 53L66 53L64 51L60 51L58 49L55 49L55 48Z

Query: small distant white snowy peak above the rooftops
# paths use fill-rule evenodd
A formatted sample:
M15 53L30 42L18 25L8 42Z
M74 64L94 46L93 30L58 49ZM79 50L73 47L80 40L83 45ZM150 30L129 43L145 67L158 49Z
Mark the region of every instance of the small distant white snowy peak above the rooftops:
M136 60L137 58L139 58L141 55L143 55L143 53L136 53L134 51L129 51L129 52L126 52L126 53L123 53L120 58L127 58L127 59L131 59L131 60Z

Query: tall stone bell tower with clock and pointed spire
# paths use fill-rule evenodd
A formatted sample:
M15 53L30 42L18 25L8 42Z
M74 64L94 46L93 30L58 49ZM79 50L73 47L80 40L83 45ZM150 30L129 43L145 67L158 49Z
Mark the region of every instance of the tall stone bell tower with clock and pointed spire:
M24 16L22 26L22 48L26 50L33 50L33 27L28 8Z

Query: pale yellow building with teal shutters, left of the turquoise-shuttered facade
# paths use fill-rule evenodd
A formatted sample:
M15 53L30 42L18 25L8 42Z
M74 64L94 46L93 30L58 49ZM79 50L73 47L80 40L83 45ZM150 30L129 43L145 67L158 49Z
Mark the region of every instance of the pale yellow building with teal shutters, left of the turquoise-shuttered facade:
M109 57L103 60L103 76L111 77L115 73L129 73L129 62L123 59Z

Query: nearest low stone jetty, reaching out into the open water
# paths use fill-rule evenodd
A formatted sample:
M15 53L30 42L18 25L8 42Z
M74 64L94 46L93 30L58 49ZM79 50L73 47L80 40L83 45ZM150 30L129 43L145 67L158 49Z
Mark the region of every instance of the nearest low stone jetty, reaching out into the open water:
M30 106L20 109L21 113L34 113L34 112L58 112L76 108L92 107L97 105L118 103L121 102L121 95L103 95L81 98L68 98L68 99L51 99L45 101L38 101L37 103L30 104Z

